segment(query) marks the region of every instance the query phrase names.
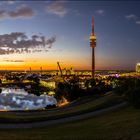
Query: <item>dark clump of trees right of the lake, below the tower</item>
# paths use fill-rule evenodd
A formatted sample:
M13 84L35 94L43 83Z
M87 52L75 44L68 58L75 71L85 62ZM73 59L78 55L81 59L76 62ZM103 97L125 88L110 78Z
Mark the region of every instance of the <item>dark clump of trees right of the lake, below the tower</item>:
M100 95L111 90L111 86L98 79L87 79L85 89L79 84L79 78L73 77L69 82L60 82L55 91L55 98L59 101L66 98L68 101L76 100L87 95Z

